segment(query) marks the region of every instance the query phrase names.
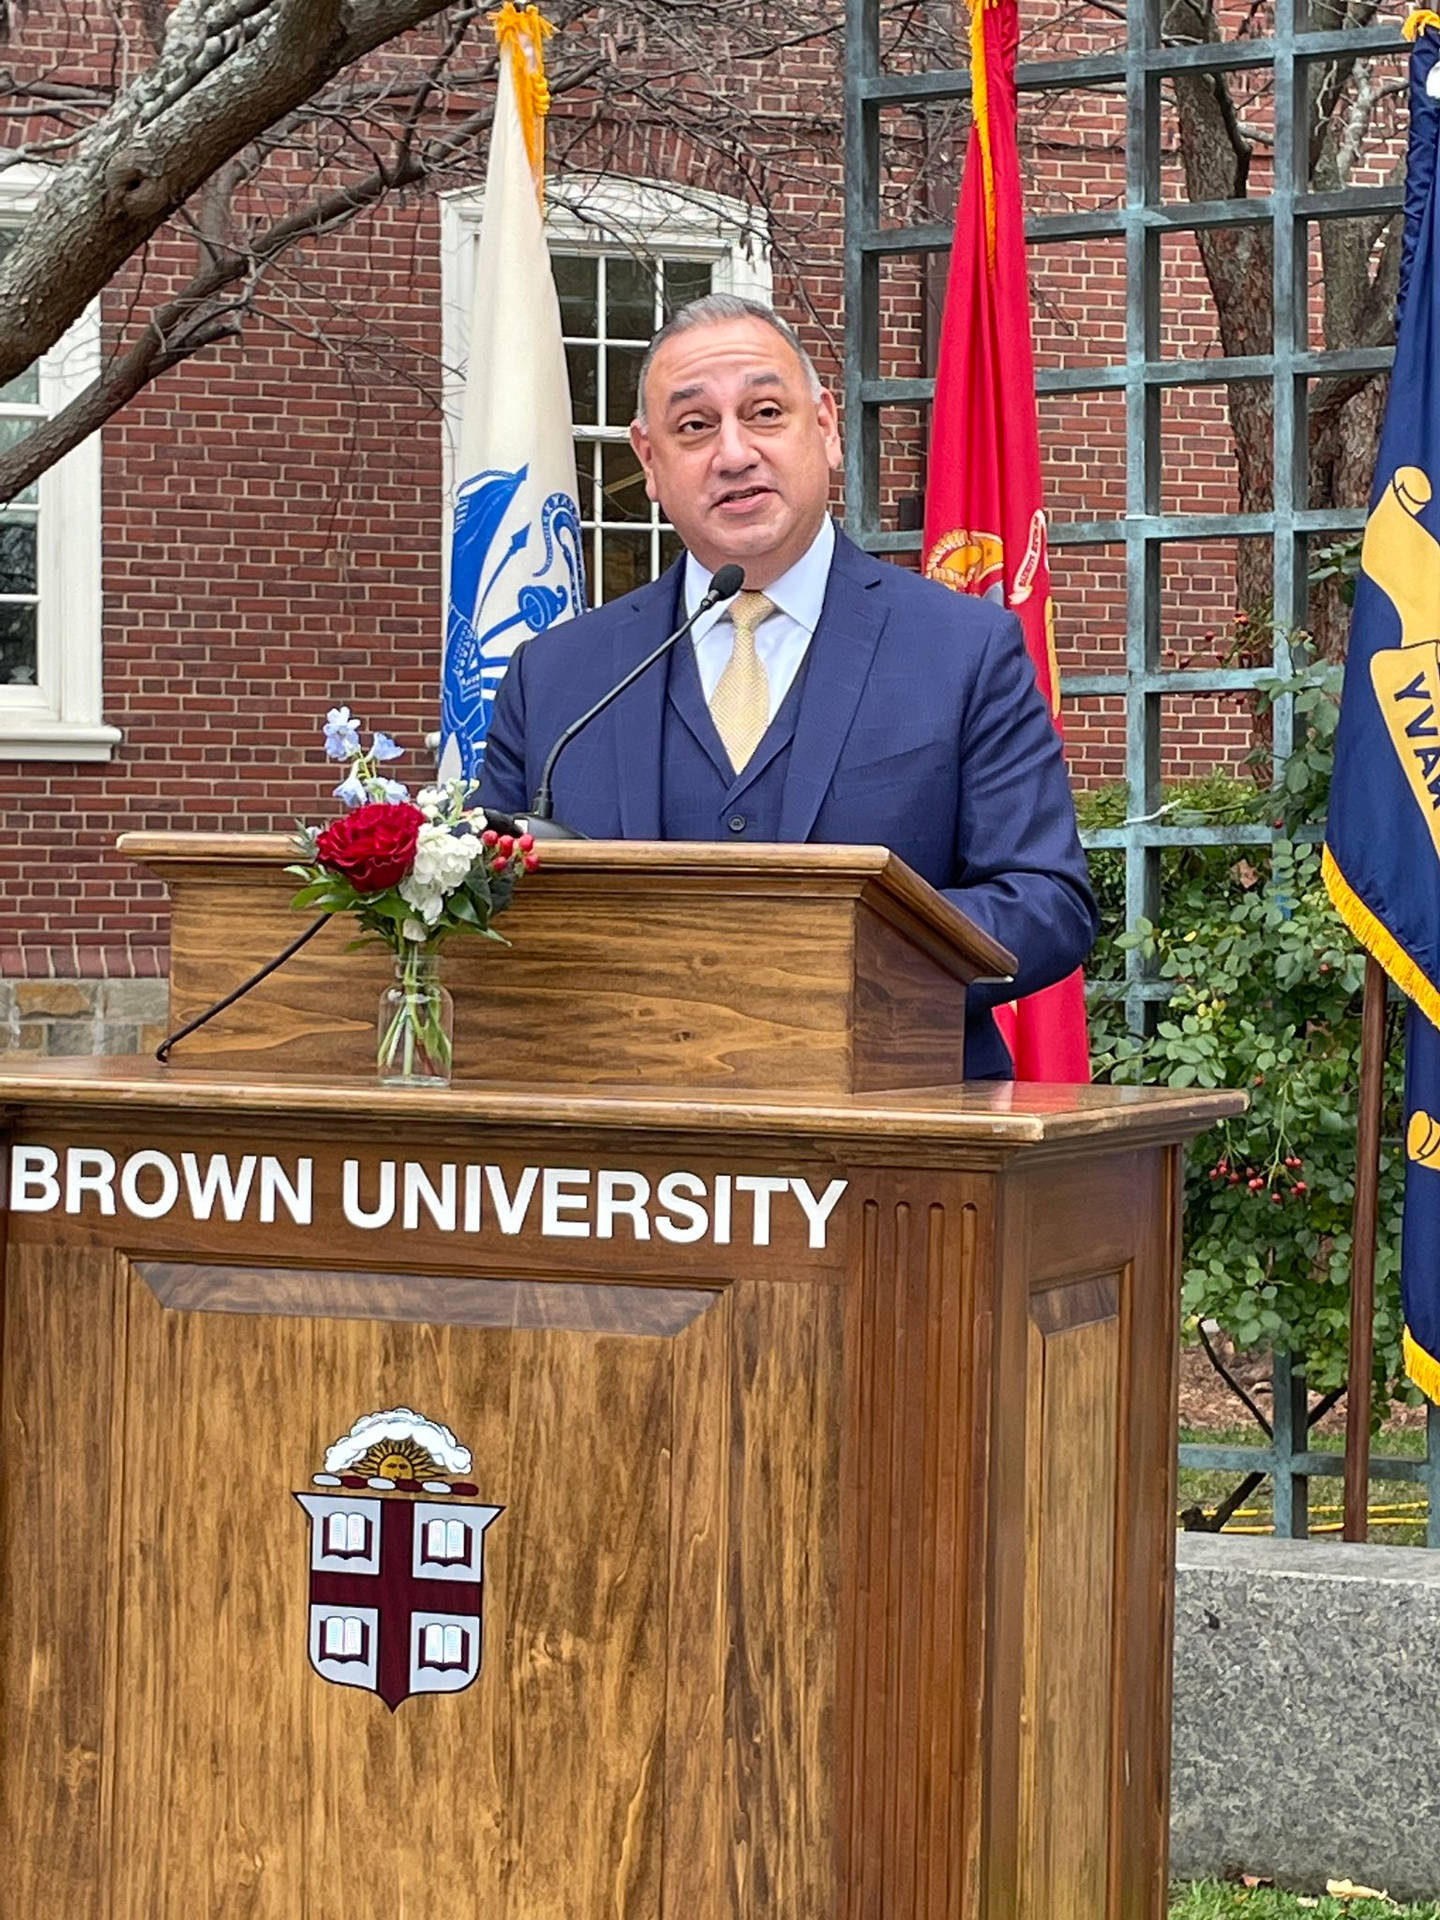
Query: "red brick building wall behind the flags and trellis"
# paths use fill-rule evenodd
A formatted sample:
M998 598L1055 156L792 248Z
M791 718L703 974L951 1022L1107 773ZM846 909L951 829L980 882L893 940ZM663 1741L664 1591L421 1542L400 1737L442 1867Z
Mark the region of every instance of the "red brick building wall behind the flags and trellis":
M88 15L86 15L88 19ZM65 46L69 77L104 77L113 54L96 17ZM12 58L54 58L54 33L21 21ZM1073 50L1073 46L1071 46ZM1033 58L1033 50L1027 50ZM839 382L843 342L843 173L839 36L793 48L764 75L774 113L770 192L776 301L801 328L822 376ZM1027 104L1027 113L1031 111ZM566 121L574 117L574 123ZM561 165L603 161L634 177L751 196L756 156L728 175L672 132L616 140L557 111ZM804 121L797 144L793 121ZM960 132L956 125L956 134ZM19 138L12 127L6 138ZM1031 205L1098 205L1123 192L1123 106L1083 96L1035 109L1025 129ZM895 129L895 215L948 217L950 173L924 182ZM799 157L797 157L799 156ZM764 156L758 156L764 159ZM1177 186L1179 194L1179 186ZM933 211L943 202L943 213ZM161 236L144 261L150 298L179 284L190 253ZM104 300L123 324L138 269ZM1043 367L1123 355L1119 244L1035 253ZM108 764L4 764L10 835L0 849L0 1044L123 1050L152 1044L163 1020L163 889L115 852L127 828L282 828L319 818L330 780L319 753L326 707L348 701L409 747L419 772L436 722L442 636L442 263L432 194L392 200L309 246L271 286L244 340L165 374L104 430L106 718L123 730ZM883 371L927 357L939 282L924 263L885 269ZM1210 294L1185 236L1171 248L1165 351L1217 351ZM1173 509L1233 505L1223 394L1167 403ZM1119 396L1046 399L1041 409L1052 520L1119 516L1125 428ZM885 522L914 524L924 490L924 417L885 419ZM1123 659L1123 555L1054 551L1062 670ZM1167 659L1223 653L1235 618L1233 543L1175 553L1167 568ZM1175 703L1165 774L1238 764L1248 714L1223 699ZM1071 701L1068 745L1081 785L1123 768L1117 701ZM48 983L48 985L46 985Z

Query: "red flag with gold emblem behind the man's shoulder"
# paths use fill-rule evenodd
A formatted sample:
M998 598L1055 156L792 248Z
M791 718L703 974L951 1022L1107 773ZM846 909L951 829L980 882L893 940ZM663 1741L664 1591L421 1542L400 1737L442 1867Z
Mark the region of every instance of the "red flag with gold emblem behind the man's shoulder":
M970 0L973 125L960 182L931 411L925 574L1020 616L1060 728L1029 278L1016 144L1018 0ZM1016 1079L1087 1081L1079 970L996 1008Z

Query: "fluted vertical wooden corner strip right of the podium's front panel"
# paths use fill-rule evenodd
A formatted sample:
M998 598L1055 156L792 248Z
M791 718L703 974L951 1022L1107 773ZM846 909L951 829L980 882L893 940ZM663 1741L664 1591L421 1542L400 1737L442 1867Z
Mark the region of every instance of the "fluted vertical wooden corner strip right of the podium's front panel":
M973 1912L979 1834L985 1194L887 1183L851 1296L837 1912Z

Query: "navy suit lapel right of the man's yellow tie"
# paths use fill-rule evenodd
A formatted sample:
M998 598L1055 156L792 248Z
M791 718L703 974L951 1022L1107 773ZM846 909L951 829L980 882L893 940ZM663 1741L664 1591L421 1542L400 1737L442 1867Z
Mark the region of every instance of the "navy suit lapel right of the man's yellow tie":
M872 591L881 580L883 572L870 555L839 534L826 605L810 641L795 745L780 803L781 841L808 837L835 778L885 626L883 601Z

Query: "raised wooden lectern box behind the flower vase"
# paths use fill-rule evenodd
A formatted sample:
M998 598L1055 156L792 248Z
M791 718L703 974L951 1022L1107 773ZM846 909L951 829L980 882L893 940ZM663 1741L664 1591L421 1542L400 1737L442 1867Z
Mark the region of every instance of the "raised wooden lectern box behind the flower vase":
M171 887L175 1027L300 931L276 835L127 835L125 851ZM457 1073L484 1073L490 1035L503 1033L505 1071L522 1085L852 1092L958 1079L954 1044L939 1060L925 1041L952 1035L956 1018L964 1027L968 979L1014 966L877 849L670 845L657 856L597 843L545 862L505 916L511 947L445 948ZM349 920L328 925L179 1056L369 1071L390 958L346 952L351 931Z

